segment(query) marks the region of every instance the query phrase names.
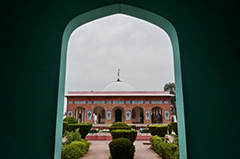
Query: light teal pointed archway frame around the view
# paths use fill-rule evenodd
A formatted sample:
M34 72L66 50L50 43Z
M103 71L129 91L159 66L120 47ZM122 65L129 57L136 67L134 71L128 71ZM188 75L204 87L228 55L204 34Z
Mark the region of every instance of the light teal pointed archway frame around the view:
M182 74L180 64L180 52L178 37L173 25L165 18L154 14L152 12L132 7L124 4L115 4L102 8L98 8L75 17L67 25L62 39L60 74L59 74L59 88L58 88L58 105L56 118L56 133L55 133L55 152L54 158L61 157L61 143L62 143L62 124L63 124L63 107L64 107L64 89L65 89L65 72L66 72L66 55L68 40L72 32L79 26L93 21L98 18L109 16L112 14L122 13L146 20L162 28L170 37L173 47L174 70L175 70L175 84L176 84L176 102L178 113L178 135L179 135L179 153L180 159L187 158L186 132L185 132L185 115L183 105L183 91L182 91Z

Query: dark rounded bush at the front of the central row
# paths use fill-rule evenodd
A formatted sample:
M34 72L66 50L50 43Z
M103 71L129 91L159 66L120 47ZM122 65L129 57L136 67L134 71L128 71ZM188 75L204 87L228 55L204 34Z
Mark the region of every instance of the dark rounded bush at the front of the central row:
M135 146L126 138L114 139L109 143L112 159L133 159Z

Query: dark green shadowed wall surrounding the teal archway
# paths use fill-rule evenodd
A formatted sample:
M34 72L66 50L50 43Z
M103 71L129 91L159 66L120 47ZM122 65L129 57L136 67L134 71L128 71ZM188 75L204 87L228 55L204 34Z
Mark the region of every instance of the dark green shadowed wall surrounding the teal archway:
M188 158L238 158L240 11L227 0L0 1L1 158L53 158L64 29L74 17L118 2L176 28Z

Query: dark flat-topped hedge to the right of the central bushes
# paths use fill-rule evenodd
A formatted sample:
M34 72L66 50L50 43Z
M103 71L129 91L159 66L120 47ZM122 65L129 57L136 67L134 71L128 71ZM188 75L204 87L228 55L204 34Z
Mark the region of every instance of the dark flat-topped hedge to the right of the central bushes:
M148 129L152 136L157 135L159 137L164 137L167 134L167 125L148 125Z

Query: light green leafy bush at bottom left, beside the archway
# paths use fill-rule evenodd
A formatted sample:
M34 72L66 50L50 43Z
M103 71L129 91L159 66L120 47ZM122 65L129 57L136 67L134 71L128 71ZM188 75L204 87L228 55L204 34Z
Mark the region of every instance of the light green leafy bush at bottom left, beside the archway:
M88 152L89 147L87 141L73 141L62 148L61 159L79 159Z

